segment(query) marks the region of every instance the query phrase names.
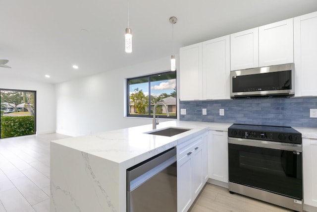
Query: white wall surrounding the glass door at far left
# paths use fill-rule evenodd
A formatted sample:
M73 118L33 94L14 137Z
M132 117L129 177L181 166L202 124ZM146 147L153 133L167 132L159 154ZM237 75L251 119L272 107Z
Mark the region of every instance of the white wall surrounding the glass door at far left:
M36 133L54 133L56 128L55 89L53 84L26 81L1 75L1 89L36 91Z

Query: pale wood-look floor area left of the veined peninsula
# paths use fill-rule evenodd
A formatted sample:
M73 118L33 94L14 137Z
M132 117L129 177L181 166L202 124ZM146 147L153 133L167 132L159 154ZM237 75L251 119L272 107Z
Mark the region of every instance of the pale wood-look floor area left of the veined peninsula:
M63 138L0 139L0 212L50 211L50 141Z

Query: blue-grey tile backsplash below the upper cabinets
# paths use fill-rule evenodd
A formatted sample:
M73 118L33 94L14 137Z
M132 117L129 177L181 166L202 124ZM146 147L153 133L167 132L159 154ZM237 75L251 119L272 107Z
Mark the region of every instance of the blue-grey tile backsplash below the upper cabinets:
M181 121L317 128L317 118L310 118L310 108L317 108L317 98L180 101L179 108L186 109ZM202 115L203 108L207 108L207 115ZM224 116L219 116L219 109L224 109Z

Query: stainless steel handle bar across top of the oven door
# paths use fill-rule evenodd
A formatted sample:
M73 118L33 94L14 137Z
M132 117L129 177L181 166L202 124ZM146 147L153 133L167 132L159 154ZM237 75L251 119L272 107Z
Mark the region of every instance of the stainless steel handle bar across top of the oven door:
M238 144L238 145L246 145L246 146L255 146L255 147L263 147L263 148L271 148L271 149L279 149L286 151L296 151L302 152L302 145L295 143L281 143L274 141L260 141L253 139L240 139L240 138L228 138L228 143Z

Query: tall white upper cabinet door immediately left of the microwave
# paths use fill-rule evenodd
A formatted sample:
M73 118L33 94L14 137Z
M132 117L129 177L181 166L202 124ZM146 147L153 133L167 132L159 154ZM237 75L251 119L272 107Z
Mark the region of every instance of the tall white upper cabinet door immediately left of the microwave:
M230 36L203 42L203 98L230 99Z

